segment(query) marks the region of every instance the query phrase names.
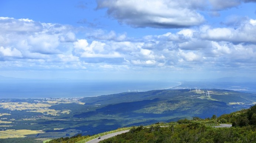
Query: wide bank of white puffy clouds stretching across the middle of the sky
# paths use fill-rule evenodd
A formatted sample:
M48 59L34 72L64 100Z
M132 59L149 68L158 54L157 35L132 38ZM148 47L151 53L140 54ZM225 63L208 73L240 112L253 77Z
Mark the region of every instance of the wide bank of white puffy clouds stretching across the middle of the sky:
M203 10L196 5L183 7ZM0 19L0 24L13 28L15 23L28 32L0 29L1 67L8 67L9 63L34 69L118 70L135 66L181 70L199 64L222 68L246 67L256 62L256 19L250 18L242 18L235 27L202 25L141 38L95 29L77 39L75 28L68 25Z

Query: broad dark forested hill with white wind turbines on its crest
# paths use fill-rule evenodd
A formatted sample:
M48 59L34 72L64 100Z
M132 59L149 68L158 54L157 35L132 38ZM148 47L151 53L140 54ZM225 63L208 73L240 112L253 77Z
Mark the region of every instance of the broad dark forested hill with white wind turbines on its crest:
M208 91L210 96L206 96ZM186 89L126 92L86 97L81 101L85 102L87 111L73 117L94 120L94 125L100 129L98 125L115 125L116 128L121 128L183 118L208 118L212 115L218 117L249 108L255 104L256 96L231 90L205 89L199 93Z

